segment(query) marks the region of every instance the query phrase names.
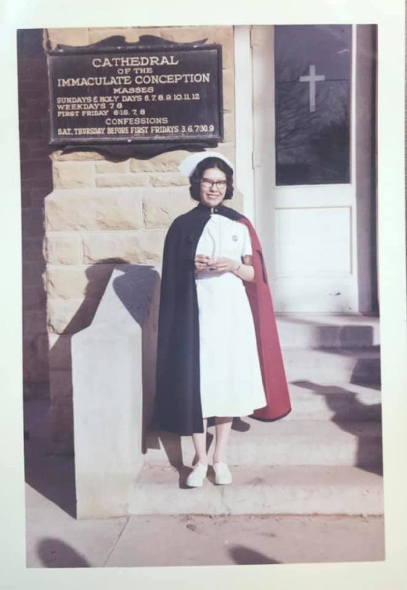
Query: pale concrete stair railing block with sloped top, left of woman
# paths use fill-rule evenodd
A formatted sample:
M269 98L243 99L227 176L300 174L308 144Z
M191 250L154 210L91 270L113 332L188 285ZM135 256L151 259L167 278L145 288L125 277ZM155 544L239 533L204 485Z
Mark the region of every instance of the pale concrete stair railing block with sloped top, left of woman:
M159 273L117 265L72 339L77 517L126 514L155 391Z

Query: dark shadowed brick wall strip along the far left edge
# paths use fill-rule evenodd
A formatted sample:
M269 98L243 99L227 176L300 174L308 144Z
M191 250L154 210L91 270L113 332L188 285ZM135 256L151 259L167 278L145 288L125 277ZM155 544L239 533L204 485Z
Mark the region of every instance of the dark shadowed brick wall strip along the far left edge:
M48 148L48 76L42 29L17 31L22 227L24 399L49 396L44 198L52 191Z

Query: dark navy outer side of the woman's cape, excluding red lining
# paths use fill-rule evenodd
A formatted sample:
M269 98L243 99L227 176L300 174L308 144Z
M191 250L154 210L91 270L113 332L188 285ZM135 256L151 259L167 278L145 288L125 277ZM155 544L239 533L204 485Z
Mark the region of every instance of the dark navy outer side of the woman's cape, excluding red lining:
M214 214L224 215L232 221L244 219L250 225L243 215L225 205L215 207ZM169 227L163 251L156 419L162 430L180 435L204 432L199 392L199 323L194 258L199 237L210 217L211 210L201 203L192 211L180 215ZM264 267L263 271L265 273ZM275 338L278 339L277 336ZM277 348L279 353L279 346ZM282 371L283 405L277 408L277 414L282 416L289 411L290 405L280 357L281 354L277 362Z

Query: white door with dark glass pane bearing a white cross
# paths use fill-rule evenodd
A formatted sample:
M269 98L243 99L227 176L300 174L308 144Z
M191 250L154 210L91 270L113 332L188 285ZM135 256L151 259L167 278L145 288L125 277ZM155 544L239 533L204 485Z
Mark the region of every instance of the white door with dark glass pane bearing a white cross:
M252 217L278 312L372 309L371 40L351 25L251 28Z

